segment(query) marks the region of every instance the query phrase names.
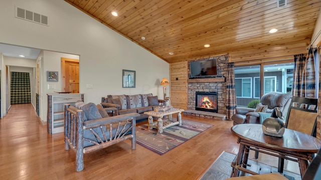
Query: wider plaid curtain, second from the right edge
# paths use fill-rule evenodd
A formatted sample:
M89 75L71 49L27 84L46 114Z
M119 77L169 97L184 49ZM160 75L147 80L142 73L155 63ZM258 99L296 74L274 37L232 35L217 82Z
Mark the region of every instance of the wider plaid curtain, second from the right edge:
M302 72L301 97L315 98L315 68L312 46L309 47Z

